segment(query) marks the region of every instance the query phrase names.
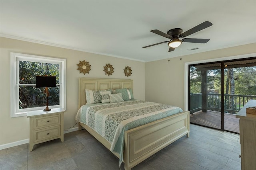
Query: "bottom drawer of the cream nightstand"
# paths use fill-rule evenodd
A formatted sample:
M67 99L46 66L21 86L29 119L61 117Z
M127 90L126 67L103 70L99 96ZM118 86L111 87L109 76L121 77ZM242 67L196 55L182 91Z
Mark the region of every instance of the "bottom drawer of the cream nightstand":
M60 126L34 131L34 142L60 136Z

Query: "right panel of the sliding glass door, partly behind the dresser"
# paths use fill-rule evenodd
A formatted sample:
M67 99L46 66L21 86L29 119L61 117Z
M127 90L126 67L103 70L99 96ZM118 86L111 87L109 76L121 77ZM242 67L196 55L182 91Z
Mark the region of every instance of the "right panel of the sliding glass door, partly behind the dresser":
M234 115L251 99L256 99L256 60L224 62L224 130L239 133Z

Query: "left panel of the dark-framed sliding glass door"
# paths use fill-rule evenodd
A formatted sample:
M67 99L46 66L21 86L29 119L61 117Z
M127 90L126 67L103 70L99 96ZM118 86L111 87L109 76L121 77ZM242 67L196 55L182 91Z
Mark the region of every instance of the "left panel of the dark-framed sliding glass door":
M190 122L221 129L221 63L190 66Z

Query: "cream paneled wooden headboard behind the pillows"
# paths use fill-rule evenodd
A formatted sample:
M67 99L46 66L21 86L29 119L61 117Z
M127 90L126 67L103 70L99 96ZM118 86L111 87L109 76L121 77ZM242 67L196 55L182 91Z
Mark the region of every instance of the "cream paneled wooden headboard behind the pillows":
M130 79L108 79L108 78L79 78L78 86L78 109L86 104L85 89L106 90L106 89L133 89L133 80Z

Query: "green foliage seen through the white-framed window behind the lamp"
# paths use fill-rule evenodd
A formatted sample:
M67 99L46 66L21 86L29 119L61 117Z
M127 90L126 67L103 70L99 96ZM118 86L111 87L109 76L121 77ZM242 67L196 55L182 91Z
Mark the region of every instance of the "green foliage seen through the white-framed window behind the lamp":
M56 84L59 84L60 65L50 63L38 63L20 61L19 63L19 99L20 109L29 107L46 106L46 94L44 88L36 88L36 76L56 76ZM60 87L48 88L49 106L59 105Z

